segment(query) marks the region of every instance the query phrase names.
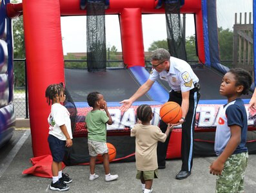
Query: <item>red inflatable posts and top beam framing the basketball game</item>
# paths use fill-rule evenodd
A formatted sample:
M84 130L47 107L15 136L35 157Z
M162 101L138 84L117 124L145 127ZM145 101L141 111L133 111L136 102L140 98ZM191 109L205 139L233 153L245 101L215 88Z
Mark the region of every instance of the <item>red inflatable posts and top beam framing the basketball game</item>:
M124 64L144 66L141 14L164 14L155 0L110 0L106 14L119 14ZM201 0L186 0L182 13L195 14L199 60L204 63ZM79 0L23 0L30 126L34 156L50 154L48 123L50 107L44 91L49 84L64 82L62 15L86 15Z

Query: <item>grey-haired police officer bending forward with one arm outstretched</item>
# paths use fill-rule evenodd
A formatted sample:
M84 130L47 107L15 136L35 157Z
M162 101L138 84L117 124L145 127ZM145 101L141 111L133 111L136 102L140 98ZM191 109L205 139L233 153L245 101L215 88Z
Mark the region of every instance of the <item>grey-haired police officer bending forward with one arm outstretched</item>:
M181 158L182 167L176 179L184 179L190 176L193 164L193 134L195 129L195 115L197 103L200 98L198 84L199 78L193 72L190 64L184 60L171 57L170 53L158 48L151 55L152 71L148 80L137 91L126 100L121 101L121 111L127 111L137 98L143 96L152 87L157 78L166 80L172 90L169 94L169 100L177 102L182 108L182 118L172 127L182 124L182 142L181 142ZM165 133L167 125L160 122L160 129ZM166 142L159 142L157 145L157 161L159 169L164 169L166 151L170 135Z

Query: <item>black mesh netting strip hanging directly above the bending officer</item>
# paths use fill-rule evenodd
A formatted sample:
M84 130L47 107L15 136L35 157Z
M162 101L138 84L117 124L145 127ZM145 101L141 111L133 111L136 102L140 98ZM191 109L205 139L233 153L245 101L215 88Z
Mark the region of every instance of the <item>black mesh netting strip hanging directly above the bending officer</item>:
M173 57L187 60L185 37L182 35L180 7L180 1L175 3L164 2L168 49Z

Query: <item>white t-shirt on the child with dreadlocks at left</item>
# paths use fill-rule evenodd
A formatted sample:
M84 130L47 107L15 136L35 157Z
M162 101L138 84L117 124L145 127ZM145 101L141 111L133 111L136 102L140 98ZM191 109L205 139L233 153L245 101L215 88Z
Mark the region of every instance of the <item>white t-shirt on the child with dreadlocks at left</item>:
M49 134L52 134L59 140L66 141L66 136L64 136L61 131L61 125L66 125L66 130L72 139L72 129L71 129L71 121L70 121L70 113L68 109L59 103L55 103L51 107L51 113L48 116L48 124L49 124Z

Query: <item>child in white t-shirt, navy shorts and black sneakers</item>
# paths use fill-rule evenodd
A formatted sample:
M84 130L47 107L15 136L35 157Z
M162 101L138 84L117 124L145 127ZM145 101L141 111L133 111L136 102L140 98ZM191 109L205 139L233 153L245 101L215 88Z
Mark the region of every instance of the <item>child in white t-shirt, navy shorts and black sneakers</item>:
M64 149L72 146L72 129L70 113L68 109L61 105L66 100L63 84L51 84L46 88L45 97L51 112L48 116L49 136L48 143L52 153L52 183L51 190L68 190L66 183L72 181L68 174L62 172L62 161Z

